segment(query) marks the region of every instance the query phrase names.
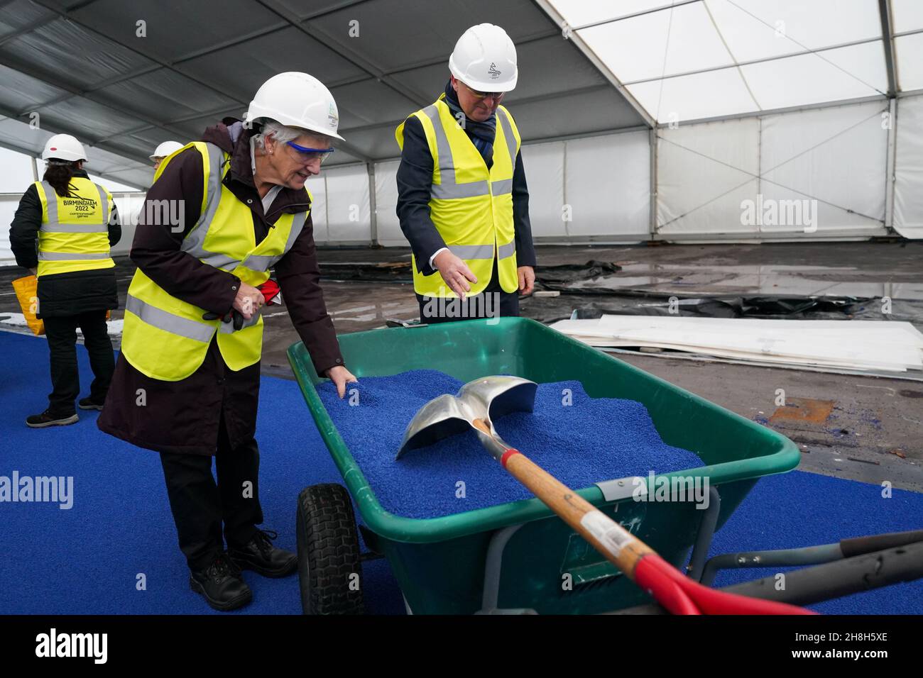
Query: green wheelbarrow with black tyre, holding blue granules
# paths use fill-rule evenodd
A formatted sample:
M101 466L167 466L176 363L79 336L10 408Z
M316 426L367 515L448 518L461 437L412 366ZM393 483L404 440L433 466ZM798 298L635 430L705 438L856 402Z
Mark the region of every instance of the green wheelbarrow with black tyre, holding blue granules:
M792 470L800 458L785 436L526 318L377 329L339 339L345 363L360 379L434 368L462 382L484 375L537 383L574 379L592 398L641 402L667 445L706 462L663 477L708 478L709 507L635 501L635 478L601 480L577 493L677 567L690 552L693 565L703 562L714 530L761 476ZM305 346L292 345L288 357L345 484L306 487L299 496L306 613L361 613L361 564L371 557L388 559L409 613L590 614L651 601L538 499L426 519L390 514L324 408L316 390L323 379ZM360 529L368 553L360 553Z

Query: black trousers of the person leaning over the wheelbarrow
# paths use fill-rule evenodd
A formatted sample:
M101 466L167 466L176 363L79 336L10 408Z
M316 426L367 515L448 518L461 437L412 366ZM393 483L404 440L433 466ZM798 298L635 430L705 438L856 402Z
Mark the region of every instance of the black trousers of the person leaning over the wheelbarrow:
M218 431L214 457L217 483L211 474L212 457L161 453L179 548L193 570L208 567L224 550L222 521L228 547L245 545L256 535L256 526L263 522L257 441L251 438L232 447L223 419Z

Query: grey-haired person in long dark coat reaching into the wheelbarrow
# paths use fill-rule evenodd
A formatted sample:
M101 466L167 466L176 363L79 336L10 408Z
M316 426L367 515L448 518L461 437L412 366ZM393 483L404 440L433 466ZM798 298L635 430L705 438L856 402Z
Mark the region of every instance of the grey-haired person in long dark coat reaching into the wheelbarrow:
M131 248L138 271L99 427L161 453L189 586L217 610L251 600L242 568L286 577L297 567L294 553L272 544L275 533L257 528L260 307L270 270L318 375L341 398L355 381L318 283L305 187L342 138L338 124L316 77L271 77L244 121L225 118L162 162Z

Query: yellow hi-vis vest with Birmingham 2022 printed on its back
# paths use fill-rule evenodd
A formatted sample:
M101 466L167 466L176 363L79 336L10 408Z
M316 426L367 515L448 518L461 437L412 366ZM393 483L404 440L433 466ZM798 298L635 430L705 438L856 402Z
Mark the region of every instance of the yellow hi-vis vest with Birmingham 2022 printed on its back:
M109 256L109 191L81 176L70 180L67 196L58 196L48 182L35 182L35 187L42 201L38 275L114 268Z

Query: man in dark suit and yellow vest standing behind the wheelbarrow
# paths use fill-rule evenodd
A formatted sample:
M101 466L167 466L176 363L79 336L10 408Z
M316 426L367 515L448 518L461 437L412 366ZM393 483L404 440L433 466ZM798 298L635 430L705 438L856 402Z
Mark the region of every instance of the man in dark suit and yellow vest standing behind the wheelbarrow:
M500 105L516 47L492 24L466 30L437 101L395 132L398 218L413 249L420 321L519 315L535 251L519 129Z

